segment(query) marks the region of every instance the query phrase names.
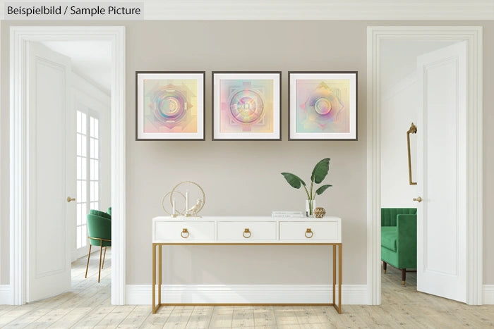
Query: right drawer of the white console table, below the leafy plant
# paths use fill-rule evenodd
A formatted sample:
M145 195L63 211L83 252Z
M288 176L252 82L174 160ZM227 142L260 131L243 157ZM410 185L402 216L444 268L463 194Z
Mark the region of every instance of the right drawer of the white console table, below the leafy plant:
M339 222L282 222L279 223L279 240L340 242Z

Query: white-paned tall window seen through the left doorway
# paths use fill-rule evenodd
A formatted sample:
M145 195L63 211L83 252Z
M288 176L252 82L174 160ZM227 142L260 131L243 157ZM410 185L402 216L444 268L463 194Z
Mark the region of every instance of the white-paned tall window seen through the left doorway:
M90 110L77 111L76 248L87 245L86 215L100 207L100 120Z

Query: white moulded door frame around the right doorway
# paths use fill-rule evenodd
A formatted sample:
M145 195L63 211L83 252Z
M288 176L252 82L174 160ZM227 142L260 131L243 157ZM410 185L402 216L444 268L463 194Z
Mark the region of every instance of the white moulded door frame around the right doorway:
M466 41L468 108L466 123L466 303L482 304L482 27L367 27L367 285L368 304L381 304L381 135L380 41L384 39Z

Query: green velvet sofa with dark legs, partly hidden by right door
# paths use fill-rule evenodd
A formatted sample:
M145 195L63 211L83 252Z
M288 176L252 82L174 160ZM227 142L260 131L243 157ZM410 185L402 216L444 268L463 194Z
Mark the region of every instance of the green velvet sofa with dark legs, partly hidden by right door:
M381 208L381 260L384 273L387 264L402 271L402 285L406 272L416 272L416 208Z

